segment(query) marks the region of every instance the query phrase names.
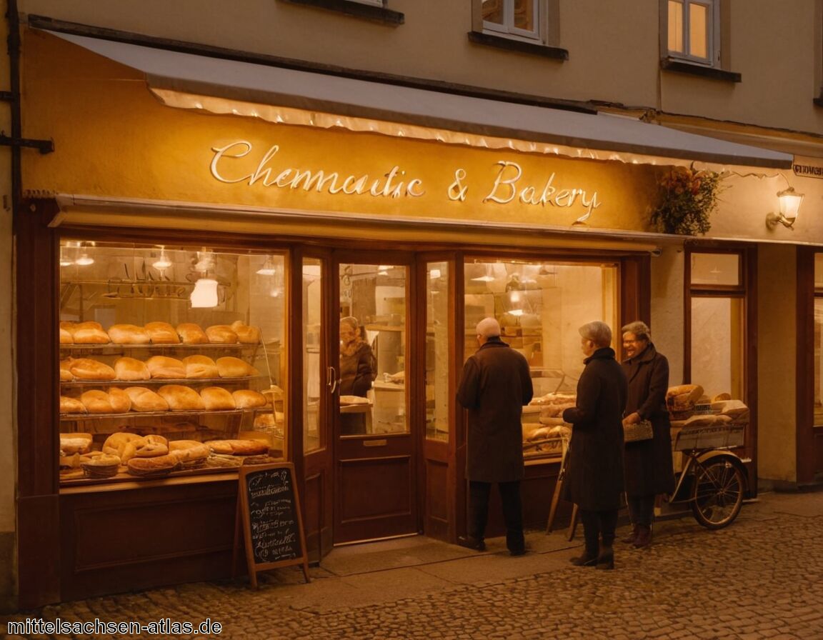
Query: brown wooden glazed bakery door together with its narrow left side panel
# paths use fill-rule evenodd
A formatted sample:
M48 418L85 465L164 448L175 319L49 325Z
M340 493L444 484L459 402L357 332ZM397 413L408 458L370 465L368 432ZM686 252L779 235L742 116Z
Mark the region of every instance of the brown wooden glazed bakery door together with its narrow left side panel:
M303 258L307 498L327 543L418 528L407 410L412 264L393 257Z

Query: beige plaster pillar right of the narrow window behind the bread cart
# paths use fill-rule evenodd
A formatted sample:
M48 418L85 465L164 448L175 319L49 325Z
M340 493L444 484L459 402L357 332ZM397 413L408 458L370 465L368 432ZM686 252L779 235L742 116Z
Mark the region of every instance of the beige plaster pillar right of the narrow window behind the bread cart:
M797 250L786 245L758 249L758 475L760 480L797 481L795 393L797 343Z

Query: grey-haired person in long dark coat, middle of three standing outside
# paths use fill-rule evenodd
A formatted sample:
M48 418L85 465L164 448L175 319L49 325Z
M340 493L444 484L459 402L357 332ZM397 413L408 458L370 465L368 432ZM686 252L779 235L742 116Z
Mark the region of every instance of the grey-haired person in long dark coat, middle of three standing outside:
M617 512L623 493L623 426L628 383L611 349L611 327L595 321L579 328L586 358L575 406L563 411L572 425L561 497L578 507L584 553L579 567L612 569Z

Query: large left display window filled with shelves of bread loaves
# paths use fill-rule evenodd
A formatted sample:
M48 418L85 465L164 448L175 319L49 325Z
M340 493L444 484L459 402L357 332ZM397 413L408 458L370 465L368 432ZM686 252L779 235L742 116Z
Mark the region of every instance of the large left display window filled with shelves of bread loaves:
M63 241L61 485L282 457L285 267L281 255Z

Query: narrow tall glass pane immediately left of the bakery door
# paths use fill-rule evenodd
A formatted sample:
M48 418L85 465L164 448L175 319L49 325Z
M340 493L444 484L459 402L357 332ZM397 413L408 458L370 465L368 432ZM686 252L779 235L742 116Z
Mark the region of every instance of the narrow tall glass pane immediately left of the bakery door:
M322 276L319 260L303 261L303 451L325 448L325 432L320 429L320 394L325 377L320 370L321 318L323 318Z

